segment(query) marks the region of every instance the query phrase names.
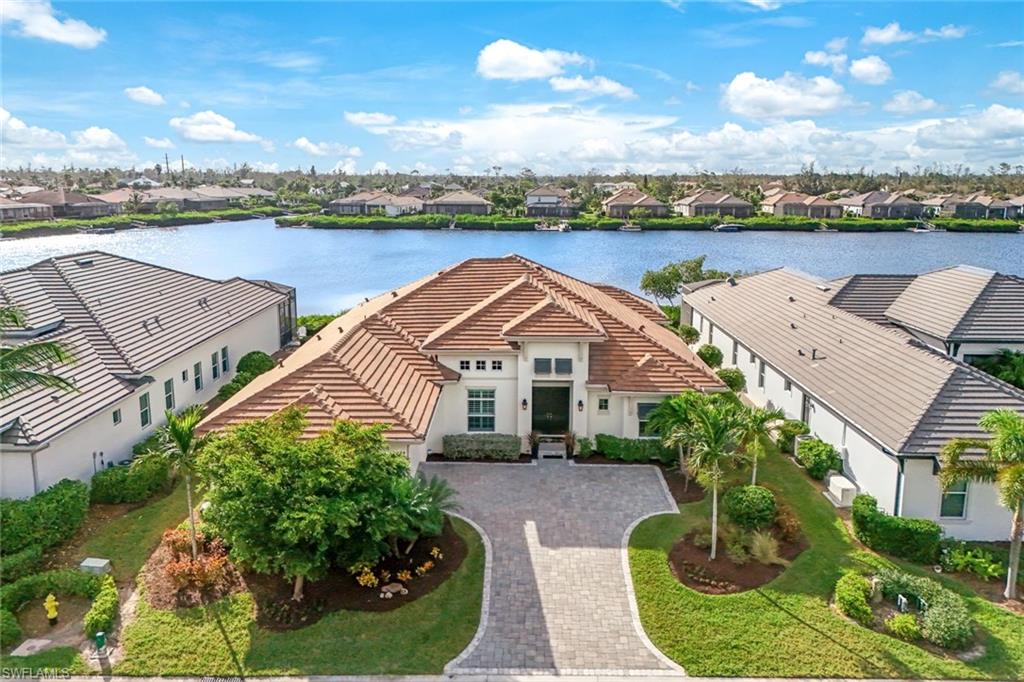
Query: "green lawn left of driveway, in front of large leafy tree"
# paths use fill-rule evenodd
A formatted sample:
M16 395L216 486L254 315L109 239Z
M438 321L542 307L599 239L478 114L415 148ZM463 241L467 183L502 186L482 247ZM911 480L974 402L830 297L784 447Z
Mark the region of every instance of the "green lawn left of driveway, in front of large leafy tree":
M386 612L336 611L290 632L256 626L248 593L210 606L161 611L139 599L122 633L123 675L328 675L440 673L476 632L483 544L455 519L469 553L430 594Z

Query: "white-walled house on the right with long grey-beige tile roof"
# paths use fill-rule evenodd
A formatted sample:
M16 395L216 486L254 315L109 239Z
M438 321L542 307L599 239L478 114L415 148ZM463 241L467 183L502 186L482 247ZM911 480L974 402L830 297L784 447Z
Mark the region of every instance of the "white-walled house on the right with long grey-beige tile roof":
M950 438L983 437L977 423L988 411L1024 412L1024 392L830 304L837 295L831 283L778 269L684 297L700 342L743 373L750 399L835 445L843 474L881 508L964 540L1005 540L1010 512L995 489L971 482L943 493L939 454Z

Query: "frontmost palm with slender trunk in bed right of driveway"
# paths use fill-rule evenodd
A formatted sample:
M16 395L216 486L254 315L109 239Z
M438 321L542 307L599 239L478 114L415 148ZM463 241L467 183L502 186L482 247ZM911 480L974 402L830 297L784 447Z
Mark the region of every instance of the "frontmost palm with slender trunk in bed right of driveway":
M714 560L718 550L718 488L725 478L725 469L738 456L743 420L737 403L727 396L697 395L690 425L679 437L689 447L688 464L697 480L705 488L711 488L711 559Z

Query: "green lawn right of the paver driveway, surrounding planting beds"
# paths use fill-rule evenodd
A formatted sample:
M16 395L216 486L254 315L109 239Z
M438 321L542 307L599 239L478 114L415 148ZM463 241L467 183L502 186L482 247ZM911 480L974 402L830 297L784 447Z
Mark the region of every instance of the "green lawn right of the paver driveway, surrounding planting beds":
M985 654L971 663L930 654L836 614L828 600L841 571L886 560L854 546L831 505L788 461L777 455L768 458L759 477L794 508L810 542L785 572L761 589L710 596L672 576L668 552L694 522L710 516L708 499L680 507L680 515L647 519L630 538L644 629L687 673L1024 679L1024 617L975 596L954 580L944 578L943 583L968 598L986 644Z

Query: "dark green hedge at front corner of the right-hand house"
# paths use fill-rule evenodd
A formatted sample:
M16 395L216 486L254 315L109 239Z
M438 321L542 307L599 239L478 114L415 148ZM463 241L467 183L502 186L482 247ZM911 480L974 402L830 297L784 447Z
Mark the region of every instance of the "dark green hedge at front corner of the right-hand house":
M869 495L853 499L853 534L872 550L918 563L932 563L939 553L942 528L924 518L891 516Z

